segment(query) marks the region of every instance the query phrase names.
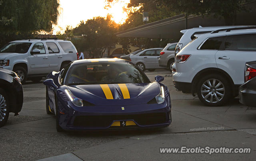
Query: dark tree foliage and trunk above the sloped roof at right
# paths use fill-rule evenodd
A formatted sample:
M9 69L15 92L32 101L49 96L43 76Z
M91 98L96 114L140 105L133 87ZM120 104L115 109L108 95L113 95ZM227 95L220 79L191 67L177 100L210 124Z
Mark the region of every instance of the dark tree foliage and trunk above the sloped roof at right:
M156 0L165 3L170 10L187 15L210 15L224 18L226 25L236 25L236 14L248 10L244 5L250 0Z

